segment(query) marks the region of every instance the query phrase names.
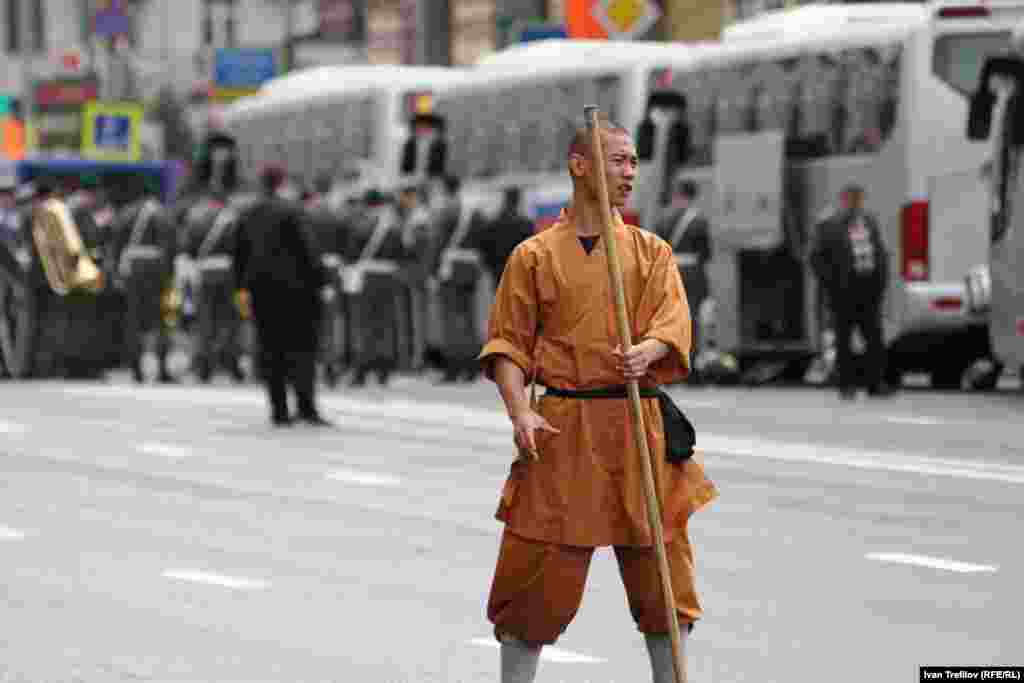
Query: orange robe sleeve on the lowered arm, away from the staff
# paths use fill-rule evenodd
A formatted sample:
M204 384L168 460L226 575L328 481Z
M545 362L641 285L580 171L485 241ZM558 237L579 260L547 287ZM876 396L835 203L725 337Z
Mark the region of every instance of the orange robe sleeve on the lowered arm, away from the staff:
M484 375L495 379L495 359L510 358L531 377L537 341L538 298L534 254L520 244L509 256L487 323L487 342L477 359Z

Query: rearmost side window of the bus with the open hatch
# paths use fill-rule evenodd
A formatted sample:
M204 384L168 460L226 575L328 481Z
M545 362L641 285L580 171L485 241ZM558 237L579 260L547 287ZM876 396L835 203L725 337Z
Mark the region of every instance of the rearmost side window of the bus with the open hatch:
M843 61L847 76L843 152L878 152L895 123L899 50L858 48L849 50Z

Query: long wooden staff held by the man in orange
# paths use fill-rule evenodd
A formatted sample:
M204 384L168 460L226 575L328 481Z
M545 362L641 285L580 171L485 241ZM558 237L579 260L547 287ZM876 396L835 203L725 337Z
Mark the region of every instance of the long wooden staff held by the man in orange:
M630 319L626 311L626 294L623 288L623 267L618 262L618 250L615 245L614 223L611 218L611 204L608 200L608 181L604 170L604 145L601 142L601 129L598 121L598 109L593 104L584 108L587 128L590 131L591 152L594 158L593 172L597 181L597 202L601 206L601 222L604 223L604 249L608 255L608 278L611 280L611 291L615 296L615 316L618 318L618 336L622 340L623 353L633 347L630 333ZM647 521L650 524L654 540L654 551L657 553L657 568L662 575L662 593L669 612L669 636L672 639L672 663L676 673L676 683L686 683L683 663L683 646L679 634L679 615L676 613L676 599L672 594L672 574L669 573L669 555L665 550L665 530L662 528L662 506L657 502L654 488L654 470L651 463L650 450L647 447L647 432L644 427L643 410L640 404L640 385L637 380L626 383L629 391L630 408L633 413L633 437L640 461L643 466L644 496L647 499Z

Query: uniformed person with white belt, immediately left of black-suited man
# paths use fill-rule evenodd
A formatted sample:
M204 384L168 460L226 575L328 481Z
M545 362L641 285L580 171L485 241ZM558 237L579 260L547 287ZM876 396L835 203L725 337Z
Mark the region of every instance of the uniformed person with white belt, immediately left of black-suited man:
M236 382L242 382L245 380L240 362L242 317L231 278L238 216L232 208L213 197L201 200L188 213L184 251L196 261L199 271L195 293L199 323L196 374L201 382L208 383L219 361Z

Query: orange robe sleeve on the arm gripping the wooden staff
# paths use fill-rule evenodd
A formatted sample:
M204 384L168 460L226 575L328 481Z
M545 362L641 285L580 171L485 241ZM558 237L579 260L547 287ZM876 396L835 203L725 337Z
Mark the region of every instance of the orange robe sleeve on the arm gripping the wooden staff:
M637 342L657 339L669 352L652 365L648 374L657 384L672 384L690 372L692 327L686 290L679 266L668 244L659 244L650 276L640 297L636 313Z

